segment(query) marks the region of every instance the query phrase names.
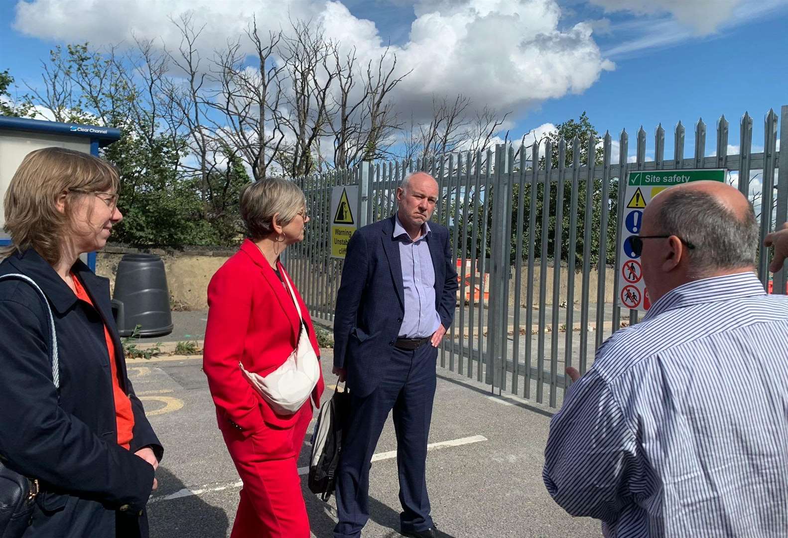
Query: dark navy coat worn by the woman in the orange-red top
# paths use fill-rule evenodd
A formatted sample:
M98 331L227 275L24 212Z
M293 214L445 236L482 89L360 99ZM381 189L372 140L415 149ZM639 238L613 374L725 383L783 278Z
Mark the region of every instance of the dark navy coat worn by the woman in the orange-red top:
M0 455L9 467L42 483L25 537L116 536L116 525L118 536L147 536L143 508L154 470L134 452L150 446L161 458L161 443L126 375L109 280L79 261L72 271L98 312L76 299L35 250L0 263L0 274L30 276L49 299L60 360L58 394L40 295L23 280L0 280ZM130 451L117 444L105 322L119 359L121 388L132 400Z

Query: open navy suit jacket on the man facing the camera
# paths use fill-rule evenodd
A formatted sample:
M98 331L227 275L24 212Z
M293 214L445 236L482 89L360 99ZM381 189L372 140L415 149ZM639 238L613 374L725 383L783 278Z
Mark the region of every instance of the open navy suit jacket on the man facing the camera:
M457 271L448 229L429 223L427 244L435 269L435 308L444 328L452 325ZM348 387L361 397L380 382L400 334L404 307L400 243L394 217L356 231L348 243L334 312L334 365L348 371Z

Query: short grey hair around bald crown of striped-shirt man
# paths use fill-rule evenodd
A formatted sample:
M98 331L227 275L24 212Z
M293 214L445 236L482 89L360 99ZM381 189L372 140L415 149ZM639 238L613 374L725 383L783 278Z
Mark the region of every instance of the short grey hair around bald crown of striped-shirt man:
M693 245L689 270L702 278L720 269L755 265L758 223L748 204L743 217L703 191L666 192L669 196L656 214L656 225L666 235Z

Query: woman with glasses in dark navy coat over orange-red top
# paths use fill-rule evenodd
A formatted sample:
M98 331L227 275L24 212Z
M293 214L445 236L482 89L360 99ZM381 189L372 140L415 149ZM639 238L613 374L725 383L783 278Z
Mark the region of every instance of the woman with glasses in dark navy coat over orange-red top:
M79 258L123 218L118 187L105 161L50 147L28 154L6 191L0 275L38 284L58 336L59 390L43 299L0 280L0 455L40 484L25 538L147 536L162 446L126 375L109 281Z

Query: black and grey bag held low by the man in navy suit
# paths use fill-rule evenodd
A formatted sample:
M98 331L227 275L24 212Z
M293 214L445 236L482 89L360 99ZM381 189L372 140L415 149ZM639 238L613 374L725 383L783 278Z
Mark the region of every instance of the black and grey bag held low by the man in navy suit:
M309 489L328 501L334 492L336 466L342 450L342 430L350 410L347 389L334 390L331 399L323 404L312 433L312 455L309 460Z

